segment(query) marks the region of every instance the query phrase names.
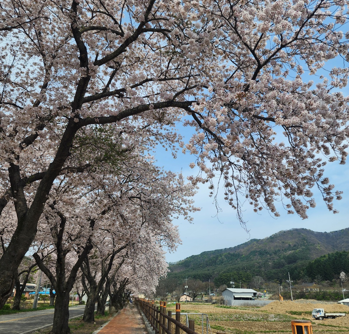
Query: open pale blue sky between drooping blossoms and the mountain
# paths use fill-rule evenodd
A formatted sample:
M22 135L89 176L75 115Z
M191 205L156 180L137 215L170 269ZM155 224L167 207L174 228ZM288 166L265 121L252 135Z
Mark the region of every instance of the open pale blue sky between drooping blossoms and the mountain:
M180 132L185 135L184 141L188 142L190 130L188 128L180 130L183 130ZM195 157L189 154L184 155L178 152L178 158L174 160L169 152L158 147L155 158L157 164L167 170L173 172L182 170L185 176L193 173L188 165L194 161ZM240 226L236 218L236 211L224 201L222 193L218 198L222 212L217 216L215 204L212 203L213 199L208 196L207 185L200 185L194 200L195 205L201 207L201 211L192 214L193 223L188 223L184 219L174 221L175 225L179 225L182 244L178 246L176 252L167 253L166 260L178 261L203 251L236 246L250 238L265 238L280 230L291 228L329 232L349 227L349 165L348 163L339 165L338 162L332 162L325 166L325 171L331 183L336 185L335 189L344 192L342 200L334 201L334 207L340 211L338 214L328 211L320 193L313 188L317 206L308 210L309 218L306 220L302 220L296 214L288 215L282 207L278 208L281 217L275 219L266 210L257 214L252 211L252 206L245 205L244 219L247 221L247 229L250 230L250 234Z

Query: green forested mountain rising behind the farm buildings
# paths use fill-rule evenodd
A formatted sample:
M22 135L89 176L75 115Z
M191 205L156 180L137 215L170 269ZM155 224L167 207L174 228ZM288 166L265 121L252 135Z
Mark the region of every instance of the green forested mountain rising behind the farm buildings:
M219 286L229 283L231 276L234 281L243 282L249 282L255 275L284 281L290 271L292 279L315 279L320 275L330 280L339 275L338 270L345 271L346 267L349 270L349 253L342 252L348 250L349 228L329 233L291 229L265 239L252 239L235 247L190 256L169 266L169 278L213 279ZM336 251L341 253L321 257ZM336 265L338 268L331 267L331 261L338 259L341 259ZM317 270L320 263L326 263L328 273Z

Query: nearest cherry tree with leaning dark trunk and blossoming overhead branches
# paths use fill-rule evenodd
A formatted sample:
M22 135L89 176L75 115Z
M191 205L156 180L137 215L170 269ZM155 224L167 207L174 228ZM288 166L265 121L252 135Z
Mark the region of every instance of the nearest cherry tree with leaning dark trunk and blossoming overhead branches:
M336 212L341 192L323 166L347 155L346 5L3 0L0 213L14 203L17 225L0 259L0 307L55 180L95 168L73 152L81 138L95 144L96 129L150 147L179 142L200 168L193 184L209 183L215 195L220 176L242 223L242 199L275 216L282 199L306 218L314 186ZM322 77L335 57L344 65ZM316 84L305 71L320 75ZM195 129L188 143L173 131L178 122Z

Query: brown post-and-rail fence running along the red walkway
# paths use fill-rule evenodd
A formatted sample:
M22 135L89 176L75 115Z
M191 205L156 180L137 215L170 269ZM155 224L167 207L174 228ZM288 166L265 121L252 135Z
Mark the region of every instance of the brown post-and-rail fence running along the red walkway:
M194 320L188 320L188 326L180 322L180 303L176 303L175 319L172 318L172 311L167 311L166 314L166 302L160 302L160 306L154 306L154 301L136 299L135 304L139 311L143 311L155 334L180 334L181 330L187 334L198 334L195 332ZM174 331L172 327L174 327Z

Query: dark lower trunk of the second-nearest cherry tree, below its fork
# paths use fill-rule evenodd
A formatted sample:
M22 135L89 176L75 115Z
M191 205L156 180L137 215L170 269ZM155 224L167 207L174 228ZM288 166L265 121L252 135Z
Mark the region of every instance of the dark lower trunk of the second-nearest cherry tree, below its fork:
M54 305L53 317L53 334L68 334L70 333L69 323L69 292L56 294L56 302Z

